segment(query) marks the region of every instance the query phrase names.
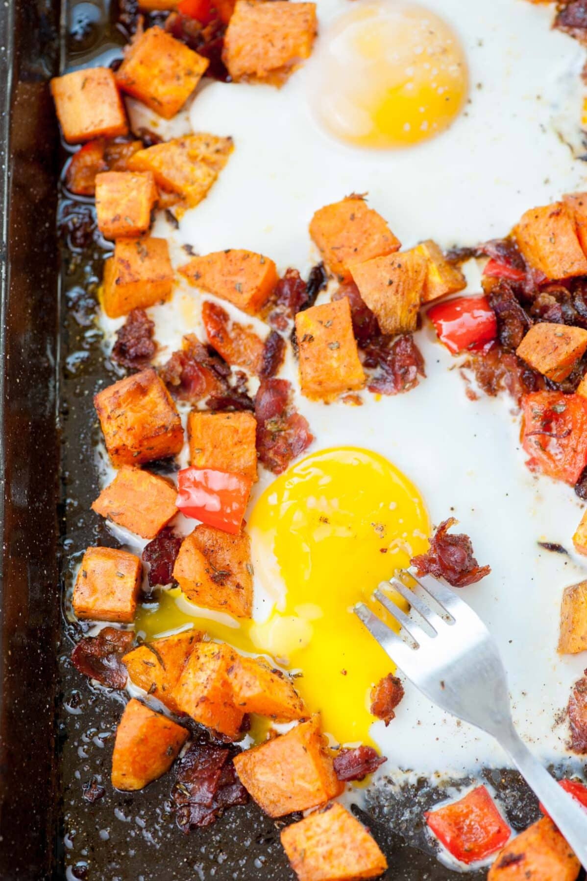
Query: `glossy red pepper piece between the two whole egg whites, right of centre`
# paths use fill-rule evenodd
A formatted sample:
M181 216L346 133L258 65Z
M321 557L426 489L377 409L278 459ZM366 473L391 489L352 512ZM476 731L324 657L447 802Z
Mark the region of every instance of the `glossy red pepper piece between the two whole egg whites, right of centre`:
M497 320L486 297L457 297L438 303L428 311L428 318L453 355L478 351L497 337Z

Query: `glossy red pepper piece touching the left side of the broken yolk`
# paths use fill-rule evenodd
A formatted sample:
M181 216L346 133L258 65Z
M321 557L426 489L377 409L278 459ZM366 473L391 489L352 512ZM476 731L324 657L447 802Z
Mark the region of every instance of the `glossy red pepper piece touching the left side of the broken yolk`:
M236 535L253 481L211 468L184 468L177 475L176 505L187 517Z

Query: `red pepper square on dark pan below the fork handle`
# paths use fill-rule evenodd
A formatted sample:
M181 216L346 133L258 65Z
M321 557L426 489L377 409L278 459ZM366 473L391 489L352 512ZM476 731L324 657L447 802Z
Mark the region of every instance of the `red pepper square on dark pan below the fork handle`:
M427 811L424 816L436 838L467 865L501 850L511 835L509 825L484 786L473 789L458 802Z

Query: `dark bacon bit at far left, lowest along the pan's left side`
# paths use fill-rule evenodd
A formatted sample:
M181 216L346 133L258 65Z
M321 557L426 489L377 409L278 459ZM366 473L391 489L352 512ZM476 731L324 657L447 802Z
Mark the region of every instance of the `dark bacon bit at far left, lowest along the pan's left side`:
M109 688L124 688L126 667L122 657L126 655L135 640L129 630L104 627L98 636L85 636L71 652L71 662L76 670L97 679Z

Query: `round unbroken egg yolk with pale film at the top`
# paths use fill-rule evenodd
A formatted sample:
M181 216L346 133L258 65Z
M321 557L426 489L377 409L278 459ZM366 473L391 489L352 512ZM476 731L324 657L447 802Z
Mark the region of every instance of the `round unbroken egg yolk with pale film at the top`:
M438 135L468 93L464 50L420 6L358 4L326 33L311 78L317 114L352 144L390 148Z

